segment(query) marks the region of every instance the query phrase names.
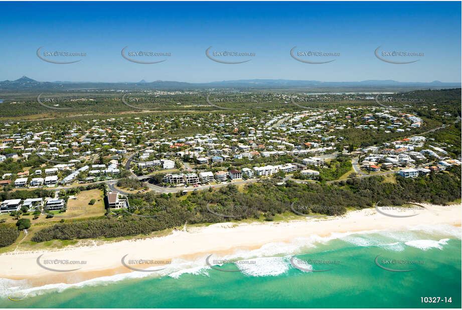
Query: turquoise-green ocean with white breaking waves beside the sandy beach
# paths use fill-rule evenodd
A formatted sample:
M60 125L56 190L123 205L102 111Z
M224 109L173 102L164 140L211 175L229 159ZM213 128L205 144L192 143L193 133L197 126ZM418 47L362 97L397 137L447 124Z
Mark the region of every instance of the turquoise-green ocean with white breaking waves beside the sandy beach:
M421 225L237 249L213 255L214 268L204 256L172 261L162 273L132 272L78 284L32 288L2 279L0 306L460 308L460 239L460 227Z

